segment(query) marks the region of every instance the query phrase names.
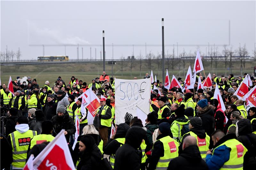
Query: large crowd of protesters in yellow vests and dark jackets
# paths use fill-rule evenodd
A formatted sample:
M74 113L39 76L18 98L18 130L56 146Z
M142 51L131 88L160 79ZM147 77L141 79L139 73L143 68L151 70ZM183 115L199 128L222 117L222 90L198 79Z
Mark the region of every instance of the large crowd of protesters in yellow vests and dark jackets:
M198 79L205 80L200 73L194 89L166 89L157 80L152 83L152 89L156 85L157 90L150 95L146 124L126 113L125 123L118 125L114 79L105 71L88 85L74 76L66 83L58 77L53 87L49 81L40 87L35 78L20 82L17 77L12 82L14 96L1 85L1 105L10 108L1 134L1 169L22 169L29 156L36 157L61 129L65 129L68 146L75 145L70 153L78 170L255 168L256 107L247 111L244 101L234 95L244 77L230 74L218 78L213 74L212 88L198 90ZM148 73L144 78L149 78ZM251 80L250 89L256 85L253 77ZM178 81L183 84L181 78ZM224 112L213 99L216 86ZM88 109L82 115L82 99L75 99L91 87L100 107L93 125L88 125ZM76 115L81 133L74 143ZM116 132L110 137L111 124ZM102 163L103 155L108 156L109 166Z

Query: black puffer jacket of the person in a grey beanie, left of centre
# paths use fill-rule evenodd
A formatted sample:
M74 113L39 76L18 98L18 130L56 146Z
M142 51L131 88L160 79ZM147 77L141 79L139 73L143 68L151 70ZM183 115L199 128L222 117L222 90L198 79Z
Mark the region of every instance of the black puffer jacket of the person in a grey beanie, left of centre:
M65 131L68 132L67 135L65 135L67 142L69 143L69 136L76 133L76 126L71 117L69 117L68 112L66 110L64 117L59 117L58 115L55 115L51 119L53 128L55 132L58 134L61 129L65 129Z

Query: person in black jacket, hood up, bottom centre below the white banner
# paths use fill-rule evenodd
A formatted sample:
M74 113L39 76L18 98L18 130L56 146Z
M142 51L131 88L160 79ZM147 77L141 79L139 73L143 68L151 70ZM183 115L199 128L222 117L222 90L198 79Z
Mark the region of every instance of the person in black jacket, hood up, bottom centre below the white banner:
M141 151L138 151L146 131L140 127L130 128L125 136L125 144L116 151L115 170L139 170L141 163Z

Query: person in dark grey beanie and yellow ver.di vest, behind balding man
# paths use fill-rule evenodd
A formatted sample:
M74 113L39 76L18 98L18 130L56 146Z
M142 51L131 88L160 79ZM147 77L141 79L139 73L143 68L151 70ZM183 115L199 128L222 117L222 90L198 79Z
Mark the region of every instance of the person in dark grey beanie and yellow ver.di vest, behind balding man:
M210 145L210 137L205 133L205 130L202 128L202 119L199 117L193 117L190 120L190 123L188 125L189 132L184 134L179 146L179 155L182 153L182 145L185 137L187 136L193 136L196 138L196 144L199 148L200 154L202 159L205 160L206 158L206 152L209 150Z

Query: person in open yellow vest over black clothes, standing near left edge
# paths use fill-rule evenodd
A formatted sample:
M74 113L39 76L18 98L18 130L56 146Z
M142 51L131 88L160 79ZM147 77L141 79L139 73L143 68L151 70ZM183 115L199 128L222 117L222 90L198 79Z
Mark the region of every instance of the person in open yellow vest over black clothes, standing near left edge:
M16 107L16 108L19 109L17 116L20 117L20 116L22 116L22 110L23 110L23 108L25 108L26 102L25 102L25 98L21 94L20 90L15 92L15 95L16 96L14 96L13 99L12 99L12 106L11 107Z

